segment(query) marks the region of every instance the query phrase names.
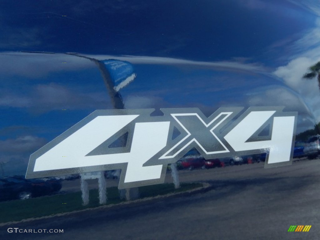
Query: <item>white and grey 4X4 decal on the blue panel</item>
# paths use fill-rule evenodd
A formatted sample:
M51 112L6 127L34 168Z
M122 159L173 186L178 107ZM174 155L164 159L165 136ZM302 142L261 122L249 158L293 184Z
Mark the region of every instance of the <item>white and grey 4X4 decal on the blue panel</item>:
M122 169L119 188L161 183L191 148L206 159L267 152L266 167L291 164L297 113L242 109L97 110L32 154L26 178Z

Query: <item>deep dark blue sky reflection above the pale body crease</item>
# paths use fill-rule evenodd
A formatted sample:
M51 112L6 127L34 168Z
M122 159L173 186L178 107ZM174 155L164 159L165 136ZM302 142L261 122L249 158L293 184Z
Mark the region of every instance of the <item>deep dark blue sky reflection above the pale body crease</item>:
M37 6L6 0L0 11L0 30L6 33L0 47L6 50L210 61L245 57L269 63L275 53L283 54L281 42L299 38L316 18L296 4L277 0L66 0Z

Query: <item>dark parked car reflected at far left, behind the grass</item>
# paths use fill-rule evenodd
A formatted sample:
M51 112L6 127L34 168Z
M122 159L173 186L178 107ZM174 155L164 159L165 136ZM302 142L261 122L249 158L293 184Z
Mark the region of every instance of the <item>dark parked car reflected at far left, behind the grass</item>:
M0 201L49 195L61 189L61 181L56 179L25 179L24 176L1 178Z

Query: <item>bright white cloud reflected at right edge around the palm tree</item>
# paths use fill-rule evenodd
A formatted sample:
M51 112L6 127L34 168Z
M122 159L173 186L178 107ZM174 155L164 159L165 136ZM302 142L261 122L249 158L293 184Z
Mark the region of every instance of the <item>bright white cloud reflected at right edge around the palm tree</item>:
M320 5L316 1L287 1L320 16ZM295 55L291 56L291 61L285 66L278 67L274 72L286 85L300 94L315 115L317 122L320 121L320 92L318 83L316 78L307 80L303 78L303 75L308 72L310 66L320 60L319 39L320 18L317 18L313 28L310 28L304 36L289 45L289 48L295 52Z

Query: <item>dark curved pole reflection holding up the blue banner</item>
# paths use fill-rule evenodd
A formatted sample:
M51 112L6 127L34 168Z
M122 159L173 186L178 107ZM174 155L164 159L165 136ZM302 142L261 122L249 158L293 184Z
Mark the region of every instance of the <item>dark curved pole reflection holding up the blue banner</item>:
M66 53L66 54L89 59L89 60L93 61L98 66L98 68L100 70L104 84L106 85L108 94L111 98L111 103L112 103L113 108L124 109L124 103L123 103L121 94L120 94L120 92L116 91L115 84L113 83L112 78L110 76L110 73L106 69L105 64L103 62L101 62L97 59L94 59L94 58L89 58L86 56L79 55L77 53ZM122 142L124 145L123 139L122 139ZM138 196L139 196L138 188L127 188L127 189L120 190L120 197L126 198L127 200L138 198Z

